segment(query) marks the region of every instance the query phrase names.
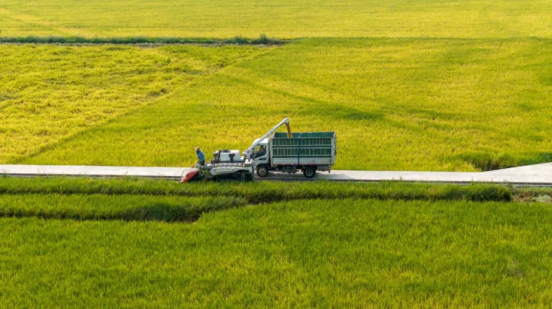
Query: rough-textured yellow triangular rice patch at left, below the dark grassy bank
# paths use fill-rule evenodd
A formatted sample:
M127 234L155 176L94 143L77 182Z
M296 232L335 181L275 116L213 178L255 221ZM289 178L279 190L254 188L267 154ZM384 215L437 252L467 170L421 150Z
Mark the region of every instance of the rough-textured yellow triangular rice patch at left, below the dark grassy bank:
M0 45L0 164L126 115L259 51Z

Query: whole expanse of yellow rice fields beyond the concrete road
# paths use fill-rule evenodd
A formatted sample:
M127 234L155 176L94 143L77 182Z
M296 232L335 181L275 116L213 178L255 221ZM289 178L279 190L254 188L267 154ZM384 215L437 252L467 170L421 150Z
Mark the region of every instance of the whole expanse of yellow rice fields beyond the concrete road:
M191 165L192 147L244 149L285 116L296 131L337 131L338 169L550 161L550 5L4 1L4 37L299 39L2 45L0 161Z

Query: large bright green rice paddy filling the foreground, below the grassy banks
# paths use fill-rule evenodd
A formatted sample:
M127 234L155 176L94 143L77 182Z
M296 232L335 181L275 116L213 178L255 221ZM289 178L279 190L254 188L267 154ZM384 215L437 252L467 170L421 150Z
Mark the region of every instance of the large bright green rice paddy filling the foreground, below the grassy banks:
M545 204L344 199L261 204L194 224L6 218L0 302L545 306L552 301L550 215Z

